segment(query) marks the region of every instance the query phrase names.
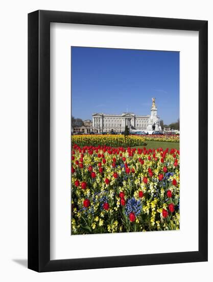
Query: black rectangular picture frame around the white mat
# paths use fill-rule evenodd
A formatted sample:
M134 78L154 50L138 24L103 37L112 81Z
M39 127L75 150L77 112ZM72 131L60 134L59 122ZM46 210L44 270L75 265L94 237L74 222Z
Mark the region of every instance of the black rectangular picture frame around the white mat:
M50 23L199 32L199 250L50 260ZM201 177L202 176L202 177ZM28 268L63 271L207 261L207 21L38 10L28 14Z

